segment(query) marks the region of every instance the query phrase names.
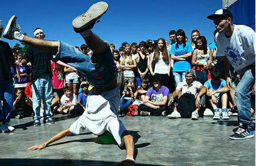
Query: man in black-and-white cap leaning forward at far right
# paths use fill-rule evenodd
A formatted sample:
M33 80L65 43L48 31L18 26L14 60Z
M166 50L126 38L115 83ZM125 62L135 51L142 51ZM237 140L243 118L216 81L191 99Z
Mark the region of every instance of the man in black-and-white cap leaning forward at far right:
M230 65L241 76L235 90L239 128L229 138L253 138L255 123L251 120L250 94L255 92L255 32L245 25L234 25L233 15L227 9L218 9L207 18L214 21L218 31L216 56L226 56L224 66L227 87L234 88L229 73Z

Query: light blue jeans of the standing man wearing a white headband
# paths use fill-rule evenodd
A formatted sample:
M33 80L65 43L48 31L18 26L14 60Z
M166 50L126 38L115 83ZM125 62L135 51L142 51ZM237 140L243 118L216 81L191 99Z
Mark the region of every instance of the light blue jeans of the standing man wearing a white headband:
M34 120L40 119L40 107L43 100L43 117L51 117L51 101L52 101L52 79L49 75L40 75L35 82L32 83L32 99Z

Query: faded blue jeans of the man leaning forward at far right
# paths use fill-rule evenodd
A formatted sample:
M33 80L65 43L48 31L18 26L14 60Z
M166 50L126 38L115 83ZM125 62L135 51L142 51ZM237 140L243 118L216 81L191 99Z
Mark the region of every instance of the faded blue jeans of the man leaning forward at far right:
M236 87L235 101L238 107L238 121L248 125L248 129L254 126L251 120L251 102L250 95L252 86L255 83L255 66L249 68L242 76L241 81Z

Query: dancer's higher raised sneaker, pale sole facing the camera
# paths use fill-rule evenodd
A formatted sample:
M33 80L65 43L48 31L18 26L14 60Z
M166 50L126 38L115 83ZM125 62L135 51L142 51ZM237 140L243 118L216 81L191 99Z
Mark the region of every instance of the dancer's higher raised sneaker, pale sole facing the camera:
M108 9L108 4L106 2L97 2L96 4L93 4L88 11L86 11L84 14L79 15L79 17L76 17L73 20L73 28L74 31L77 33L80 33L82 31L90 30L93 28L96 21L101 18L102 15L105 14L105 12Z

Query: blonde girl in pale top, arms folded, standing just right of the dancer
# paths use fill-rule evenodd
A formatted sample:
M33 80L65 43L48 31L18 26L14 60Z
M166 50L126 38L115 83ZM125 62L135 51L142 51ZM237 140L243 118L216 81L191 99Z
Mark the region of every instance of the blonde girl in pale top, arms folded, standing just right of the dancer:
M135 56L131 54L129 44L124 45L124 55L120 58L120 70L124 72L124 87L128 84L133 84L135 80L134 71L137 68Z

